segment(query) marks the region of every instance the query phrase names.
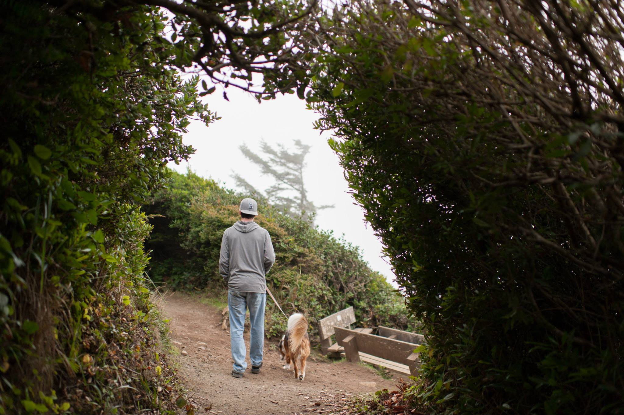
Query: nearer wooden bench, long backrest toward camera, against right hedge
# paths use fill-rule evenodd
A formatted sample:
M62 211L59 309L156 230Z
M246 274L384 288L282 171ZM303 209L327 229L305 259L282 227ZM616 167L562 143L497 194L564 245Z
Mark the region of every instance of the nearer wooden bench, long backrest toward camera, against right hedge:
M414 353L414 349L418 346L416 343L342 327L334 327L334 332L338 344L344 348L348 361L363 360L412 376L418 373L420 358L418 353Z

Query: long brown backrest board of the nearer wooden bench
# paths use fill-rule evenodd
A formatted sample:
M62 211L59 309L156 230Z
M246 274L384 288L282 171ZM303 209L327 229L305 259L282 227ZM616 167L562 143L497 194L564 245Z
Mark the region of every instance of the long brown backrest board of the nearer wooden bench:
M358 351L408 366L411 362L407 360L407 357L412 355L414 349L417 347L414 343L407 343L407 341L356 332L348 328L336 327L335 331L336 340L339 345L341 345L344 338L349 335L354 335L358 343Z

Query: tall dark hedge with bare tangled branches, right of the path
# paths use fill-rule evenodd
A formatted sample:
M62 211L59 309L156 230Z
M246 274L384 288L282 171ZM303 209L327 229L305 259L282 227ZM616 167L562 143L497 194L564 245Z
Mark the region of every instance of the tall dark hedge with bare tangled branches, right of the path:
M362 0L321 22L309 100L428 332L414 411L623 413L617 7Z

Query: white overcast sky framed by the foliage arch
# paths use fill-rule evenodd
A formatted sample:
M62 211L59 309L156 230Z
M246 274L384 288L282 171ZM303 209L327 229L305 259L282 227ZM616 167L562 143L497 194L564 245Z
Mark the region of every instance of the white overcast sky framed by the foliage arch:
M319 135L314 130L316 113L307 110L305 102L295 95L280 96L275 100L256 102L246 92L230 87L228 102L223 98L220 87L205 98L210 110L221 120L209 126L193 122L184 136L185 144L196 149L190 161L169 166L180 173L187 168L205 178L212 178L227 188L235 188L233 171L243 176L252 186L264 191L272 183L268 176L260 174L260 168L247 160L238 147L246 143L250 150L260 153L260 140L275 146L283 143L291 147L298 139L310 145L306 157L304 181L311 201L317 206L334 204L334 208L323 209L316 216L316 225L321 229L334 231L341 237L361 248L363 259L372 269L381 272L389 282L394 280L391 267L382 256L382 245L370 225L364 222L364 213L348 194L349 186L344 179L343 169L327 143L330 133ZM240 190L240 189L238 189ZM262 209L260 206L259 209ZM393 284L396 286L396 284Z

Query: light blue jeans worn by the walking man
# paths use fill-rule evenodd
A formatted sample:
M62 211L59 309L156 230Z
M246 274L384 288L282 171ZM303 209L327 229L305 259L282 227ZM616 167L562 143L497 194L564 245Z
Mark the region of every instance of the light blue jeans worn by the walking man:
M265 307L266 293L228 291L228 310L230 312L230 345L232 346L232 370L243 373L247 368L245 355L245 328L246 308L249 308L251 321L249 356L251 366L260 366L265 345Z

